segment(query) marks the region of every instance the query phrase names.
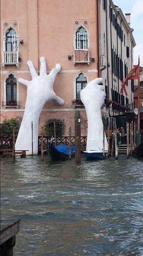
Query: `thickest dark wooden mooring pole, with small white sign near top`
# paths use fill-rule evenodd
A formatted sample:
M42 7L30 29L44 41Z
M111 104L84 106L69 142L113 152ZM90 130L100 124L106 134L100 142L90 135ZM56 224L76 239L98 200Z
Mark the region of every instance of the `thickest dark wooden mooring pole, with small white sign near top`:
M75 110L75 163L81 163L81 130L80 130L80 111Z

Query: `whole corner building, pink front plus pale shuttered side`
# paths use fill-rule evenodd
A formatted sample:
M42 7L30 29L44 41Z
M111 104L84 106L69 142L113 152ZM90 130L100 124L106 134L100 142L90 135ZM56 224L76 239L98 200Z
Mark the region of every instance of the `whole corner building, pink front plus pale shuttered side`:
M7 8L8 6L8 8ZM57 63L61 71L54 91L65 103L47 102L39 119L39 134L46 122L64 123L74 136L75 110L80 110L81 134L87 135L87 117L80 102L80 90L91 80L102 77L108 101L102 116L111 118L126 111L113 102L132 106L133 88L128 81L128 96L120 86L133 67L135 40L130 14L122 13L111 0L1 0L1 122L21 120L27 88L18 78L31 80L27 61L39 74L39 58L44 56L47 74ZM38 97L38 95L37 95ZM115 104L116 105L116 104ZM53 121L54 122L54 121Z

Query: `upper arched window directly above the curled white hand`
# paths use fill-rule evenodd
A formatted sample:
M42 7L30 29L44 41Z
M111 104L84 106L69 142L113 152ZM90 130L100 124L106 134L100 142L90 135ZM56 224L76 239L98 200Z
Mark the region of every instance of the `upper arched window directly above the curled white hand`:
M88 49L87 31L83 27L80 27L76 32L76 49Z

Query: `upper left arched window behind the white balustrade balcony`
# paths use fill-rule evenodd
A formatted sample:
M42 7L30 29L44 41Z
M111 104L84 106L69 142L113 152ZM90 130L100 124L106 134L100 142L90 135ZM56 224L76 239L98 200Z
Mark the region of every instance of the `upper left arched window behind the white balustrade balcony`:
M16 51L16 48L16 32L14 29L10 28L6 33L6 51Z

